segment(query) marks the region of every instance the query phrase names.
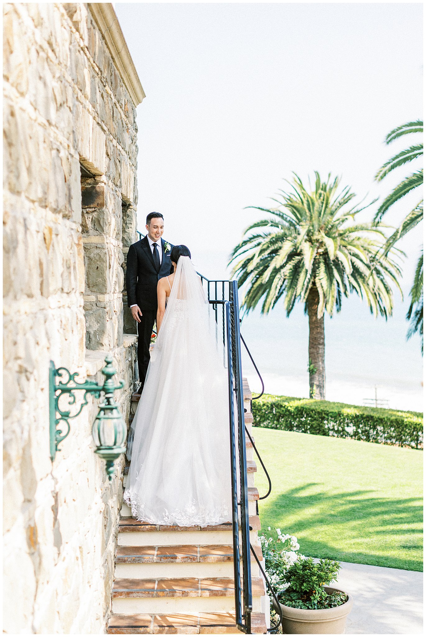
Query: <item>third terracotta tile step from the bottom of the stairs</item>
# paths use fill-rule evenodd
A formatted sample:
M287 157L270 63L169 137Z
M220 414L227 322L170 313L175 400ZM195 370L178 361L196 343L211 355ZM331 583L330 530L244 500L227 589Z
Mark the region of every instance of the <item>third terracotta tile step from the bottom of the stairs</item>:
M253 547L259 559L262 549ZM117 547L116 564L232 562L234 550L229 545L183 545L157 547Z

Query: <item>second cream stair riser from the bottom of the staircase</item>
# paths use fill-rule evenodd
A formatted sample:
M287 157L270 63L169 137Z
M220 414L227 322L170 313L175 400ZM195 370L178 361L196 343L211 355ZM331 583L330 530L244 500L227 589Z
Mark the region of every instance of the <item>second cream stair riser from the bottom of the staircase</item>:
M159 577L233 577L234 562L173 562L170 564L115 564L115 577L134 579ZM259 566L252 560L252 576L259 577Z

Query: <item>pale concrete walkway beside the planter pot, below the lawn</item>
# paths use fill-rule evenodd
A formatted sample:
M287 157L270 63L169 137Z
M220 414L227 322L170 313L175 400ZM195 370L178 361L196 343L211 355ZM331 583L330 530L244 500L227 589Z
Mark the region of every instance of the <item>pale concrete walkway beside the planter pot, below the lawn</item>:
M340 563L337 585L353 596L345 634L423 633L423 573Z

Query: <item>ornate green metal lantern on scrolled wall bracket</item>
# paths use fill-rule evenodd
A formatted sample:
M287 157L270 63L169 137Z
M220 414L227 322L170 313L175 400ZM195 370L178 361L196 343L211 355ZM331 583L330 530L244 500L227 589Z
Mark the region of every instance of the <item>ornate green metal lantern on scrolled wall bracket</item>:
M49 366L49 416L50 416L50 458L55 459L57 451L60 451L59 444L64 440L71 426L69 420L76 418L82 413L83 407L87 405L87 396L94 394L96 398L101 396L101 392L105 394L103 403L99 404L99 412L97 413L95 422L92 427L92 436L95 441L95 453L106 461L106 473L108 479L111 480L114 475L114 462L125 452L125 439L127 436L127 426L118 409L118 405L114 400L114 392L122 389L125 385L124 380L120 380L118 385L114 385L112 380L117 371L113 368L113 357L108 354L105 357L106 366L102 373L105 376L103 385L98 385L90 381L79 383L75 380L78 372L71 374L66 368L55 368L53 361ZM60 381L57 382L57 378ZM75 390L84 390L83 402L80 409L71 415L69 410L64 410L59 406L59 399L63 394L68 394L67 406L76 403L76 397L73 392ZM66 426L65 433L59 428L59 424L63 422Z

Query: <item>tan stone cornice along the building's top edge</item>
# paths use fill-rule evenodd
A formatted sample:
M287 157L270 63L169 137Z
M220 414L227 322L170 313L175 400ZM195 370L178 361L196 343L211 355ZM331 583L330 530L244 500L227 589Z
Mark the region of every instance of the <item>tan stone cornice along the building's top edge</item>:
M134 105L138 106L145 97L145 92L112 4L109 2L91 2L89 3L89 9Z

